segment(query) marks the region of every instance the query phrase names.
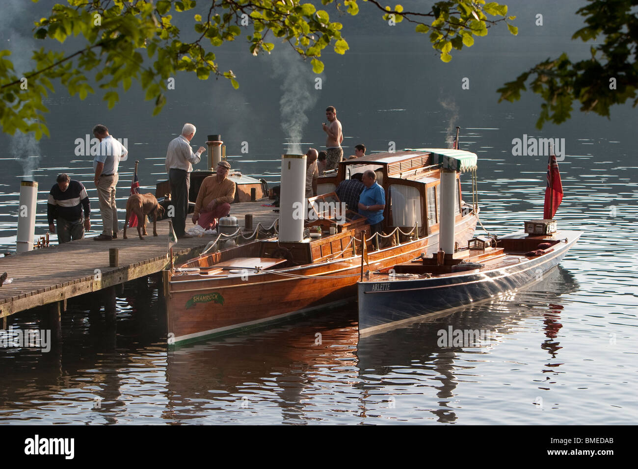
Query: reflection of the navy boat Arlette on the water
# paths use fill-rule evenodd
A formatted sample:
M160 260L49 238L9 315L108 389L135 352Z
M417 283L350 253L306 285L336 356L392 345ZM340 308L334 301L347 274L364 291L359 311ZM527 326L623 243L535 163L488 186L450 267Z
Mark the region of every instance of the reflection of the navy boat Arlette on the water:
M561 349L556 340L562 327L560 296L577 289L574 276L559 266L526 290L361 338L357 346L362 379L359 387L366 396L393 394L388 398L390 405L398 399L394 395L411 394L410 385L429 387L419 392L431 396L429 402L438 406L431 405L427 410L438 422L456 422L459 417L452 403L459 386L479 378L472 375L472 355L491 354L508 335L519 332L521 322L540 313L544 317L544 338L539 337L539 346L556 358ZM403 379L397 385L401 378L411 381Z

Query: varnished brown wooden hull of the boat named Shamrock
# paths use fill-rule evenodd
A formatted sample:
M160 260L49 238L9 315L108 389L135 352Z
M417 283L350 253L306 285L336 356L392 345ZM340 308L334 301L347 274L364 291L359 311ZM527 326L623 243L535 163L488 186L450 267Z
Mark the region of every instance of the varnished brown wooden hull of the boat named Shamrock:
M474 216L457 223L459 244L471 238ZM375 271L438 249L438 234L368 253ZM283 269L281 269L283 270ZM338 258L285 271L262 271L242 278L191 279L168 282L168 343L182 345L260 327L301 313L334 308L354 301L361 257Z

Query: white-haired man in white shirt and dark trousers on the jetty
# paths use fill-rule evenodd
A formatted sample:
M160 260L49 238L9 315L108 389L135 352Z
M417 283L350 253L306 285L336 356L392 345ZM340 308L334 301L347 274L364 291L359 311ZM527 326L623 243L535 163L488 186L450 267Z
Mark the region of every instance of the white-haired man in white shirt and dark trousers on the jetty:
M188 191L191 188L191 172L193 165L200 162L200 155L206 151L199 147L193 153L190 141L195 137L197 129L193 124L184 124L182 135L168 144L166 152L166 170L170 181L171 204L175 207L173 227L178 238L189 238L186 234L186 214L188 213Z

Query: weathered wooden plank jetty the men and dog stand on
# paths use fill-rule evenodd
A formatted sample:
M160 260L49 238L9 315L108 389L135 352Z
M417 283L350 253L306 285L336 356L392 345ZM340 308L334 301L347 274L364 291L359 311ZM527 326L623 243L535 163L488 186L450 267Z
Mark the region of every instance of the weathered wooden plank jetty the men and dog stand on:
M244 215L253 214L253 229L257 223L268 228L278 218L274 207L262 207L271 201L232 204L230 214L244 227ZM187 229L193 226L187 219ZM122 225L122 220L120 220ZM162 271L168 259L168 220L158 222L158 236L152 235L152 223L147 225L149 236L144 241L137 228L127 230L128 239L93 241L93 236L62 245L35 249L26 253L0 258L0 273L7 272L13 282L0 287L0 318L25 309L63 302L78 295L114 287L126 281ZM173 246L177 262L197 256L213 235L180 239ZM109 248L119 249L119 267L109 267Z

